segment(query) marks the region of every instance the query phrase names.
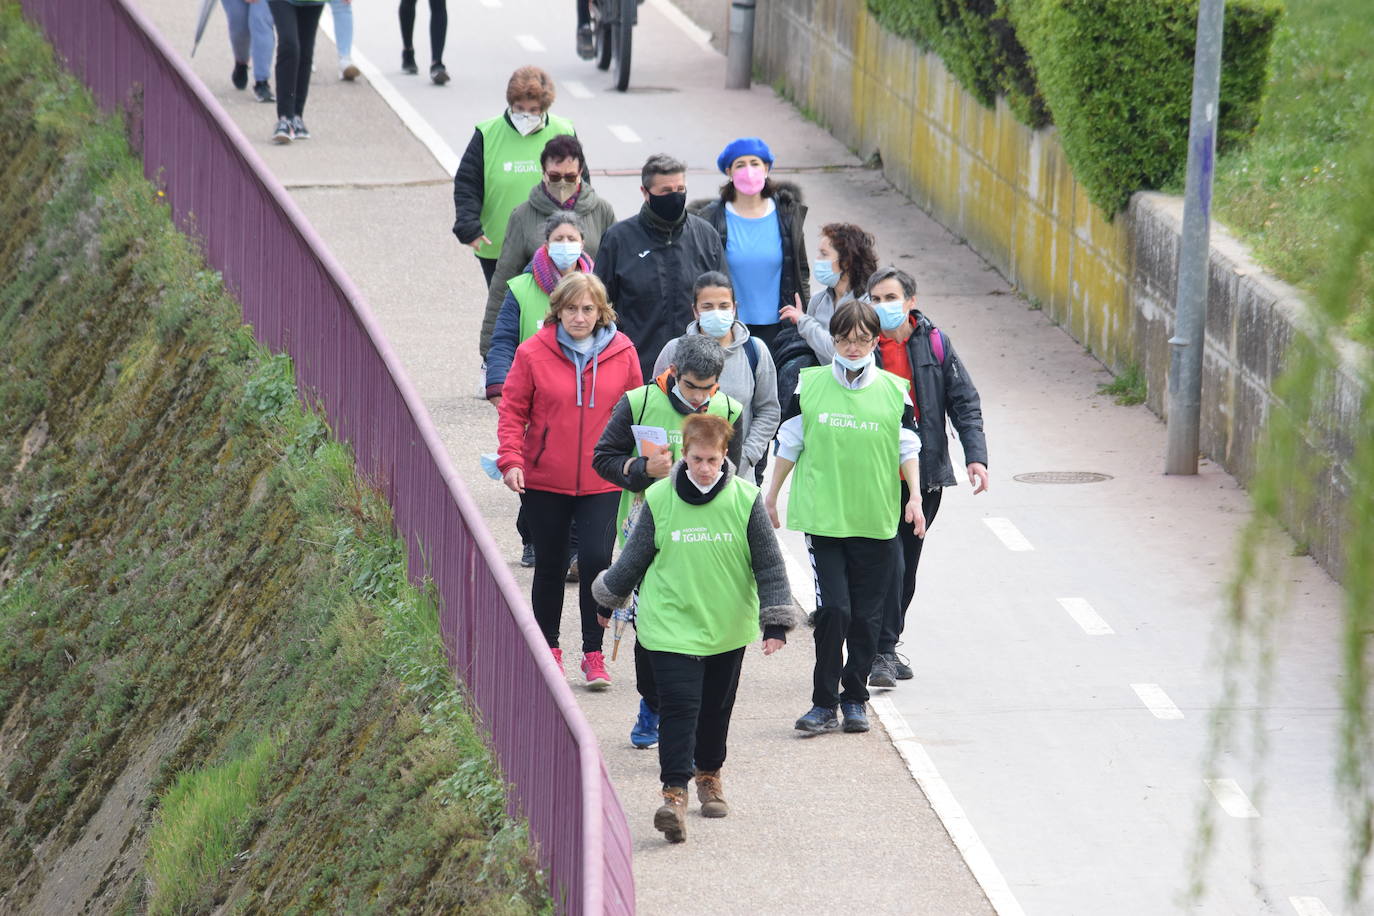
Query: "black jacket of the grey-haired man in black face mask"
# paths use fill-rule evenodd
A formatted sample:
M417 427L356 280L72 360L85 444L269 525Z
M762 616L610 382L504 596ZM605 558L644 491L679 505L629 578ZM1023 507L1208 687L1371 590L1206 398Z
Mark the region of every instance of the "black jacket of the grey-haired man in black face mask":
M646 382L664 345L695 317L691 288L706 271L730 272L725 250L710 224L691 213L666 229L646 205L602 236L592 272L606 284L616 327L639 350Z

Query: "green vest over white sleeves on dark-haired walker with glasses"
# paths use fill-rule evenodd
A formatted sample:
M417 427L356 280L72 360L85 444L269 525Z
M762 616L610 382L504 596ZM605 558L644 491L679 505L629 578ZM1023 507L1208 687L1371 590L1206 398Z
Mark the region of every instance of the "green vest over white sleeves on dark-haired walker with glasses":
M801 435L787 527L824 537L897 534L901 413L908 382L892 372L846 389L830 365L801 371Z

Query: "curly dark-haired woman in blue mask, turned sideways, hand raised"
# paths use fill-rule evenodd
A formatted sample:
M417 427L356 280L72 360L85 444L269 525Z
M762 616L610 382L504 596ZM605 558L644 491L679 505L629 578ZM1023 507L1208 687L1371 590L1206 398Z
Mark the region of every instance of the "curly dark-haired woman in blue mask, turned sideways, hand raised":
M809 365L826 365L835 354L830 338L830 316L861 294L868 275L878 268L872 235L849 222L820 227L812 275L820 286L802 308L796 298L779 313L782 328L774 341L778 364L778 401L789 404L797 390L797 375Z

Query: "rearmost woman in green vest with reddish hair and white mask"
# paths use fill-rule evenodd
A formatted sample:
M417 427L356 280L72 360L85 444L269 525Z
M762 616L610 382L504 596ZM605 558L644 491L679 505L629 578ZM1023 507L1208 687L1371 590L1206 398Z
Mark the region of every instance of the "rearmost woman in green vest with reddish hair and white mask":
M544 146L574 133L572 121L548 113L554 95L545 71L515 70L506 84L506 111L477 125L453 174L453 235L477 253L488 288L511 210L539 184Z

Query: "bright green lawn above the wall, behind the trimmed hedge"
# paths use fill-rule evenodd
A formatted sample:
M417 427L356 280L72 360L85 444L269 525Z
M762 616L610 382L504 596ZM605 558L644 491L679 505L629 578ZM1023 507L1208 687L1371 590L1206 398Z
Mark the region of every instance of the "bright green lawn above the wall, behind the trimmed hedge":
M1374 7L1285 0L1274 81L1250 144L1217 162L1217 216L1285 280L1315 291L1347 231L1352 163L1374 143ZM1374 343L1374 254L1359 262L1359 317Z

